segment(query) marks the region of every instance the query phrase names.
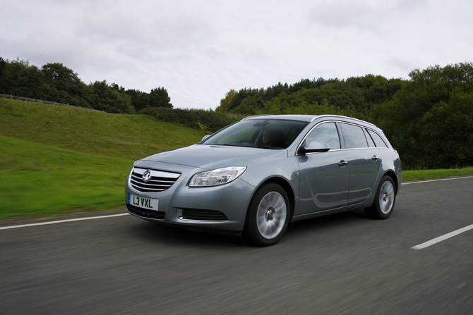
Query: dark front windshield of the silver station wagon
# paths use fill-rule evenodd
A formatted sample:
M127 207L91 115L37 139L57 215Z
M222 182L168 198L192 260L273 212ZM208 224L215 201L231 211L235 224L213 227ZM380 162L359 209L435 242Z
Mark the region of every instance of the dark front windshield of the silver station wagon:
M201 143L286 149L306 125L304 121L249 119L230 125Z

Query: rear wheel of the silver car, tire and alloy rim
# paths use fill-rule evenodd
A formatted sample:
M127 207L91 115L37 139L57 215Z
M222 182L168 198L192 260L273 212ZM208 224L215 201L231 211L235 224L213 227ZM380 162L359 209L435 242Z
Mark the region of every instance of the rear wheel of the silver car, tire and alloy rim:
M378 185L373 204L369 208L365 208L364 211L371 218L383 220L389 218L393 213L395 201L396 187L393 178L385 175Z

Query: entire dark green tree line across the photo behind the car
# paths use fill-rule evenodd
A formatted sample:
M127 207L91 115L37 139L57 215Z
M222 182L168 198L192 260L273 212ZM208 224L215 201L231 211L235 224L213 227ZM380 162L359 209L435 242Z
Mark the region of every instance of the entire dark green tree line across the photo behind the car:
M215 111L173 109L164 87L149 93L104 81L86 85L62 63L41 68L0 57L0 93L143 113L160 121L215 132L257 114L337 114L378 125L405 169L473 166L473 63L414 69L409 80L364 75L301 79L265 88L230 89Z

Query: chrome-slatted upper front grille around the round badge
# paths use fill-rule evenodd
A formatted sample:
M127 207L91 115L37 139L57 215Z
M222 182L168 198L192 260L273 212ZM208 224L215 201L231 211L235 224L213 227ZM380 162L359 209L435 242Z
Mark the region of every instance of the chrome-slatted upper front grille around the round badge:
M151 172L151 178L147 182L143 180L143 173ZM168 190L181 176L179 173L167 171L148 170L147 168L133 168L131 171L130 185L138 192L164 192Z

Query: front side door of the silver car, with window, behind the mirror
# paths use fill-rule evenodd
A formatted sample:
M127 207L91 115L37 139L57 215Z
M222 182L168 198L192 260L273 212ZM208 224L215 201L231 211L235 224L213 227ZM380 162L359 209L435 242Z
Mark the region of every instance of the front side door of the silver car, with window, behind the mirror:
M349 185L348 152L341 147L335 122L321 123L302 142L326 142L328 152L299 154L300 199L298 214L334 209L347 204Z

